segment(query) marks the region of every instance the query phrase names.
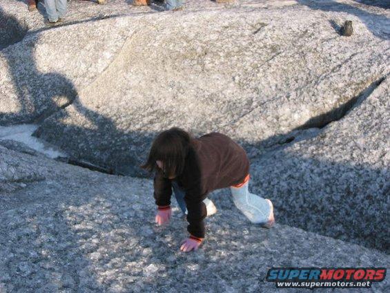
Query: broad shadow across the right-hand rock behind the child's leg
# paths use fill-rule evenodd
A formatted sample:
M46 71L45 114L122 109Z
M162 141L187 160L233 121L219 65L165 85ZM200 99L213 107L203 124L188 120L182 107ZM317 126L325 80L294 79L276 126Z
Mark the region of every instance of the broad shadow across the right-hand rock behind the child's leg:
M273 201L277 223L389 254L388 170L283 149L257 158L252 168L249 188Z

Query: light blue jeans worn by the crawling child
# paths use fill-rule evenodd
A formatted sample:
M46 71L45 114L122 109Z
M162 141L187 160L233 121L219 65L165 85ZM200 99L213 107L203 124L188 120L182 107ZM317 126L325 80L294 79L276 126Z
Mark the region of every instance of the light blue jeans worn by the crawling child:
M265 224L268 221L269 214L271 213L271 207L269 203L262 197L257 196L248 191L249 181L242 187L231 187L231 194L233 196L233 202L237 209L240 209L242 214L248 218L252 223ZM182 209L183 214L187 213L186 202L184 201L185 192L177 185L177 182L172 181L173 193L177 205ZM203 202L207 205L206 198Z

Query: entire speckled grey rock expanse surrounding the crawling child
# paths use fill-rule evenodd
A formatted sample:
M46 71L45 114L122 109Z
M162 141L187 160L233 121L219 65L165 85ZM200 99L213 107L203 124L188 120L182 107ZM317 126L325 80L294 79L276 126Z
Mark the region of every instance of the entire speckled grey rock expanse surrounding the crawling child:
M184 254L178 209L153 223L151 180L1 140L1 293L302 292L276 290L268 268L389 266L386 1L68 7L47 28L42 3L0 0L0 125L37 122L70 158L132 176L163 129L226 133L277 225L251 225L222 189L202 249Z

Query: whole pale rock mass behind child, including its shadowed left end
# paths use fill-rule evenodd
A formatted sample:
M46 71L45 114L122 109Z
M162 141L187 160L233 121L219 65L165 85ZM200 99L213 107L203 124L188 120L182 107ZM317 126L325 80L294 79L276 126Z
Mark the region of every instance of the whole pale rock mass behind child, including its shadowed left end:
M4 5L32 29L1 51L0 120L57 112L37 135L117 173L145 175L138 165L170 126L260 149L283 142L315 117L333 120L389 69L389 12L355 1L194 1L182 12L126 13L113 1L111 14L93 3L76 12L76 3L50 30ZM340 36L345 19L353 37Z

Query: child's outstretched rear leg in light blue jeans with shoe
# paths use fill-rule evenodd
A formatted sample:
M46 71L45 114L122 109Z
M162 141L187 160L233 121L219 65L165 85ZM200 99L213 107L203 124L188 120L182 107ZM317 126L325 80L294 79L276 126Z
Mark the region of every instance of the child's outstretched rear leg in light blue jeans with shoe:
M237 209L252 223L263 224L264 227L273 225L273 207L271 200L266 200L248 191L249 181L242 187L231 187L233 202Z

